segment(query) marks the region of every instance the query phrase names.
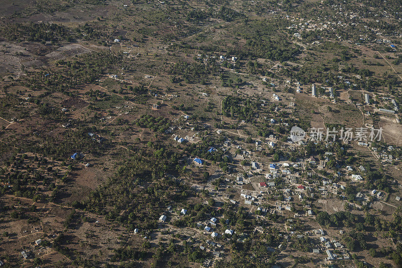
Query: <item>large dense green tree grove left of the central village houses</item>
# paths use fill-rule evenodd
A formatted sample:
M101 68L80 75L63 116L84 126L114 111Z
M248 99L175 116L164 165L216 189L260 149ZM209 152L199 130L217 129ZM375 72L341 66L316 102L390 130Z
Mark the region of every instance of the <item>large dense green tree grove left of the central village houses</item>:
M119 166L115 174L93 191L81 207L125 224L129 229L157 228L157 219L171 203L184 202L191 189L167 173L181 172L177 159L139 152ZM157 205L157 206L155 206ZM122 213L123 212L123 213Z

